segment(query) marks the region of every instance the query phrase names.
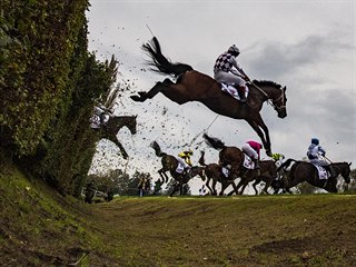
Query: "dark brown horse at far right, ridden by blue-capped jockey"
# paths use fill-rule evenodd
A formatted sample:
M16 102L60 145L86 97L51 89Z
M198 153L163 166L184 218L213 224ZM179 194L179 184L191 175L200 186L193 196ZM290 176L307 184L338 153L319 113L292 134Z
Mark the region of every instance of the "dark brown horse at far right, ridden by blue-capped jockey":
M317 168L306 161L298 161L295 159L286 160L281 166L278 167L277 171L281 168L288 168L288 166L295 162L288 176L284 177L283 179L283 187L289 191L289 188L303 182L307 181L315 187L323 188L328 192L337 192L337 177L340 175L346 184L350 181L350 165L347 162L334 162L330 164L330 168L335 170L335 175L329 177L328 179L319 179L319 174Z

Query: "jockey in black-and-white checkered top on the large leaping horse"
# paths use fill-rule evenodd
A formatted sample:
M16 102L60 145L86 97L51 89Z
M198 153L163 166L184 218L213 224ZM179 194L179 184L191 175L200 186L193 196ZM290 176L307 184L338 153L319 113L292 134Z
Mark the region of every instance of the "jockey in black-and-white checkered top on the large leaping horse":
M248 95L246 81L249 81L249 78L235 59L239 55L240 50L235 44L233 44L226 52L221 53L215 61L214 78L218 82L236 87L240 101L246 102Z

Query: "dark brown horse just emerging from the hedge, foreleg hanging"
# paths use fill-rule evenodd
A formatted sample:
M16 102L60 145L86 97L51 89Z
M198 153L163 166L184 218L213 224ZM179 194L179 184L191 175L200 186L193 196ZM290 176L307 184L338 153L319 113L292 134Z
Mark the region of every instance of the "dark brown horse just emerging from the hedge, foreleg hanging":
M110 117L109 120L102 127L100 127L100 137L117 145L125 159L128 158L128 154L122 147L121 142L118 140L117 134L122 127L126 126L130 130L131 135L136 135L136 118L137 116Z

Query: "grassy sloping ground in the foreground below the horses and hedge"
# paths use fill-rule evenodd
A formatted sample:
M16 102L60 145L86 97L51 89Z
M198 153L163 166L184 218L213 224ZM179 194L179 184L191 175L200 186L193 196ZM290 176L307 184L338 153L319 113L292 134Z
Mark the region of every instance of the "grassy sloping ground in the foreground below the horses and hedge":
M356 195L86 205L8 166L0 266L355 266Z

